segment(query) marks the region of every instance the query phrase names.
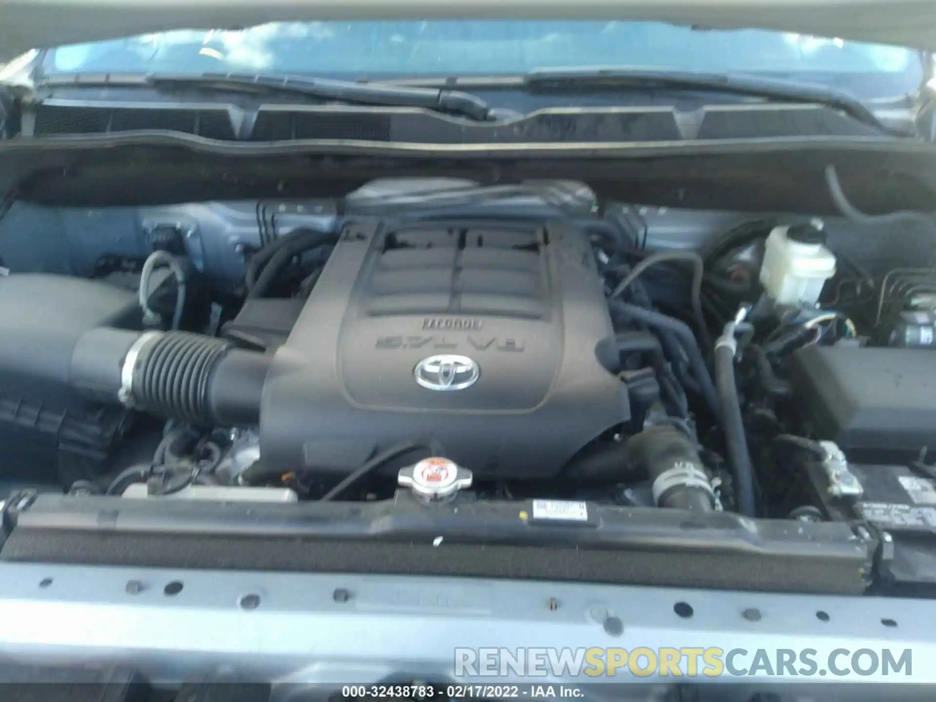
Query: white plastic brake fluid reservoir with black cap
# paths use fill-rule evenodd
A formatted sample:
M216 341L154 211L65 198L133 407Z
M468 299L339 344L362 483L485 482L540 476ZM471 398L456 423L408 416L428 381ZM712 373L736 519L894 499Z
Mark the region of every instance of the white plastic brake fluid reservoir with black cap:
M823 245L822 231L812 225L775 227L767 238L760 281L781 304L819 301L826 280L835 274L835 255Z

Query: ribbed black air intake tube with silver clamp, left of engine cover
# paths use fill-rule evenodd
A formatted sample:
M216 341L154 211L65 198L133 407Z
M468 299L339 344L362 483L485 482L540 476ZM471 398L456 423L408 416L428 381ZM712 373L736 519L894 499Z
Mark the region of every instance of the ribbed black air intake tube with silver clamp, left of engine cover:
M198 424L256 426L271 356L184 331L94 329L71 361L86 395Z

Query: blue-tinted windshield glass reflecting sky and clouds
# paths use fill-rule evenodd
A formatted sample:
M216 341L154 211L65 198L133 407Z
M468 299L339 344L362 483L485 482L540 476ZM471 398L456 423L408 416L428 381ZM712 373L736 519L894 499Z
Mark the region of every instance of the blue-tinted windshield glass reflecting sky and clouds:
M899 95L924 78L918 51L760 30L656 22L271 22L180 30L50 51L47 73L288 72L353 78L519 74L641 66L763 73Z

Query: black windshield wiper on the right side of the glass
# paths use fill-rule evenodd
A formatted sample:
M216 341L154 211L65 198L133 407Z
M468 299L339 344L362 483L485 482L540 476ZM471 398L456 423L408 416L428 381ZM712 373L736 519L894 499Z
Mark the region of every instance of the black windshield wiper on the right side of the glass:
M659 88L725 93L760 97L777 102L823 105L833 110L840 110L858 122L868 124L892 136L913 136L910 132L884 124L854 95L825 85L812 85L792 80L723 73L599 67L534 70L523 77L523 84L532 90L562 92Z

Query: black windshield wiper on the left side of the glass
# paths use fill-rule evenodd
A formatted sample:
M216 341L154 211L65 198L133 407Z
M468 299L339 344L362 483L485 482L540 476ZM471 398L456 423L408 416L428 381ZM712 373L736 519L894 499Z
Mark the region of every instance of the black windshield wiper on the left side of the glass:
M197 87L224 90L226 88L255 88L307 95L324 100L374 105L381 107L425 108L468 117L476 121L490 120L490 106L477 95L458 90L413 88L380 82L354 82L285 73L149 73L149 74L73 74L48 76L42 86L112 87L152 86Z

